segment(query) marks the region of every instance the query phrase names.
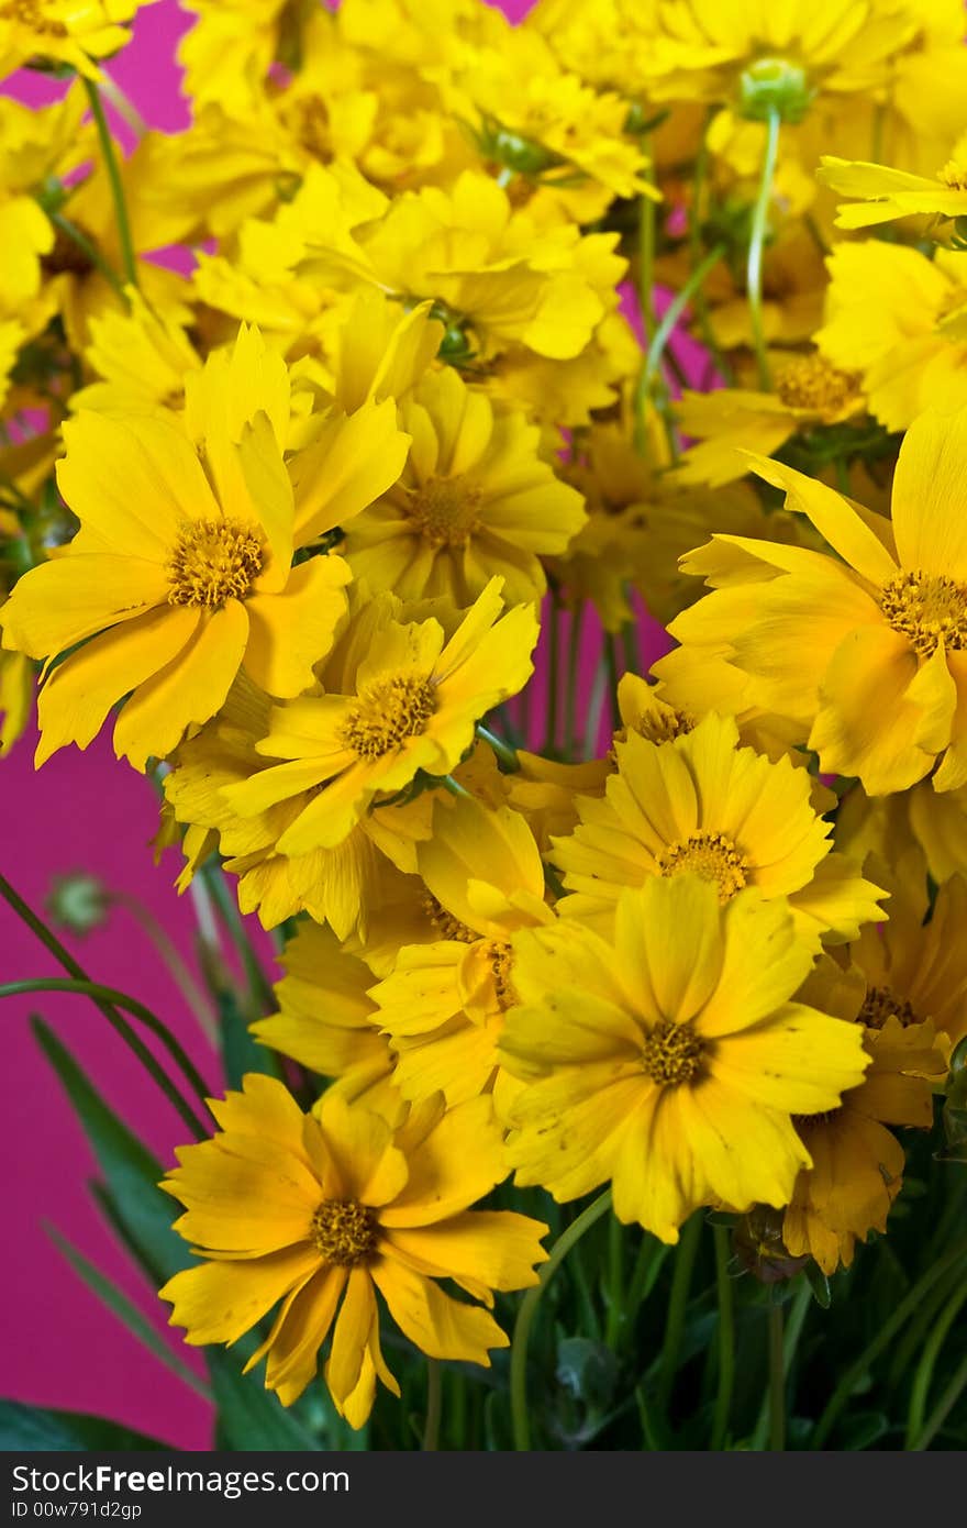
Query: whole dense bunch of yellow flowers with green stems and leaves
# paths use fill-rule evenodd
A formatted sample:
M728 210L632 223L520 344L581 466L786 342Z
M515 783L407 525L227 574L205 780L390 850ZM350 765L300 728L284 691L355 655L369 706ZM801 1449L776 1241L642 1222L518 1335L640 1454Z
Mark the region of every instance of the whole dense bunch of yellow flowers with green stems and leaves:
M964 1447L959 0L137 9L0 5L0 738L244 975L0 995L218 1436Z

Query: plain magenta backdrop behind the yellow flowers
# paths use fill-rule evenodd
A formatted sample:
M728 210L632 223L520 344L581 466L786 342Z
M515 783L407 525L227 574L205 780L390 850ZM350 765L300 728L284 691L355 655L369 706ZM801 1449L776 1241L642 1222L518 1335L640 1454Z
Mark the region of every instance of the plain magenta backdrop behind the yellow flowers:
M504 0L503 9L519 20L530 3ZM188 119L174 64L177 38L188 24L174 0L160 0L141 12L133 43L110 66L151 127L176 130ZM9 90L32 104L58 93L55 84L38 75L18 76ZM645 628L649 659L657 656L658 634L660 628L651 623ZM542 707L541 689L533 697L538 707ZM58 753L38 775L32 750L34 736L27 736L0 764L3 872L37 908L55 876L73 869L95 872L113 891L139 897L191 957L194 917L189 900L179 898L171 888L176 860L167 856L157 869L151 863L148 840L157 811L148 782L115 761L104 735L86 753L76 749ZM128 912L116 909L105 929L82 940L67 935L66 943L92 976L160 1012L202 1071L215 1079L214 1057L196 1021ZM61 972L52 958L0 905L0 979L53 975ZM177 1449L206 1449L211 1416L205 1403L99 1305L44 1232L44 1222L57 1225L137 1300L200 1372L197 1355L182 1346L179 1334L167 1331L167 1306L145 1290L96 1212L87 1187L95 1163L31 1038L27 1018L34 1012L43 1013L64 1036L108 1102L165 1164L185 1138L177 1115L86 999L38 996L3 1004L9 1170L3 1261L8 1322L0 1389L17 1400L116 1418Z

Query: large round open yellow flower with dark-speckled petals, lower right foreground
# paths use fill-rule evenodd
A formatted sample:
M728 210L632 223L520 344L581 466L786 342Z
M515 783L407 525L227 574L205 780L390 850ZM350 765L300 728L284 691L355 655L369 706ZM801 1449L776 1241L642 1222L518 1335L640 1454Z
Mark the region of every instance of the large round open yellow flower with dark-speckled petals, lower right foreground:
M666 1242L703 1204L788 1204L810 1166L791 1115L836 1108L869 1059L855 1025L791 1001L811 953L784 903L651 880L611 941L559 923L513 944L518 1183L573 1199L610 1178L619 1219Z

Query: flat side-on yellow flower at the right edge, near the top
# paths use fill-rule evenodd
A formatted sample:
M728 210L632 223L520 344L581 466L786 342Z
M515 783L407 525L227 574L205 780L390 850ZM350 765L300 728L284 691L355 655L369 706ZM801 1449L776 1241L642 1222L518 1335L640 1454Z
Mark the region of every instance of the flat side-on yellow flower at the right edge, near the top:
M840 203L837 228L869 228L895 217L929 214L935 219L967 215L967 134L953 147L950 159L930 180L909 170L872 165L863 160L823 154L817 177L842 196L859 202Z

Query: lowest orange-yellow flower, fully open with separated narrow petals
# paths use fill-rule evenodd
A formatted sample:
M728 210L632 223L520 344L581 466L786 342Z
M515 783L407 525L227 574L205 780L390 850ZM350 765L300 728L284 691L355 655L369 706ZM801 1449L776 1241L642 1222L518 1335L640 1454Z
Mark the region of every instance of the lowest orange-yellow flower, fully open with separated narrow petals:
M489 1311L435 1282L492 1305L492 1290L536 1284L547 1256L539 1221L469 1209L506 1174L487 1099L426 1108L393 1131L341 1097L306 1115L281 1082L249 1074L211 1111L218 1134L182 1148L162 1184L186 1210L176 1230L206 1259L160 1291L188 1343L234 1343L281 1302L246 1371L267 1357L266 1389L290 1406L331 1329L325 1383L353 1427L377 1378L400 1394L380 1351L377 1290L432 1358L489 1368L487 1349L509 1346Z

